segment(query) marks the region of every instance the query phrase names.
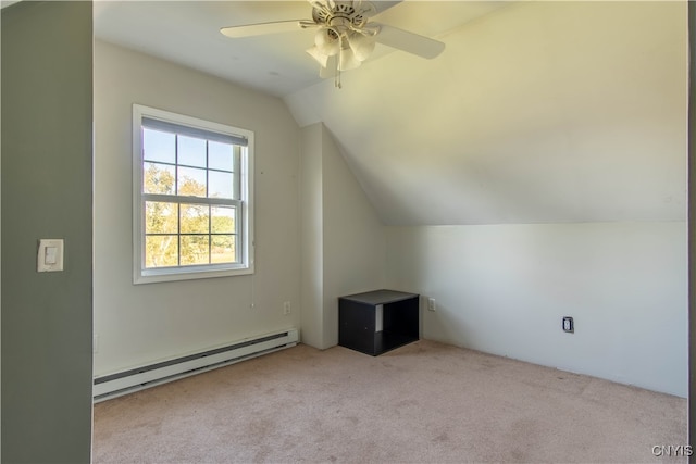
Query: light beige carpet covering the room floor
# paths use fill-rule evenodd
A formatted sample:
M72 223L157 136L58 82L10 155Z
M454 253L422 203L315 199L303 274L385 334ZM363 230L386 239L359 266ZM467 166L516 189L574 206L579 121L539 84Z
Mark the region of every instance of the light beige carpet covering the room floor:
M307 346L95 405L96 463L685 462L686 400L421 340Z

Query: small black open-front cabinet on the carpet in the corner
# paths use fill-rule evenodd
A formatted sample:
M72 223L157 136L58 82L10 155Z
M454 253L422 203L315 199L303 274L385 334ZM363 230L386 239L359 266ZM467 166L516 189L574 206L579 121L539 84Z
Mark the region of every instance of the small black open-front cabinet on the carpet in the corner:
M417 341L419 296L375 290L338 299L338 344L376 356Z

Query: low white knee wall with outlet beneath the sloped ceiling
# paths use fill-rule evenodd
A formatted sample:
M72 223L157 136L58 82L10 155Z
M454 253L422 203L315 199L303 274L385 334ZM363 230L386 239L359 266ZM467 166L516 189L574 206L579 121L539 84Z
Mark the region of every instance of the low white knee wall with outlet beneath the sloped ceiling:
M423 337L686 397L686 223L389 227ZM561 330L572 316L575 333Z

